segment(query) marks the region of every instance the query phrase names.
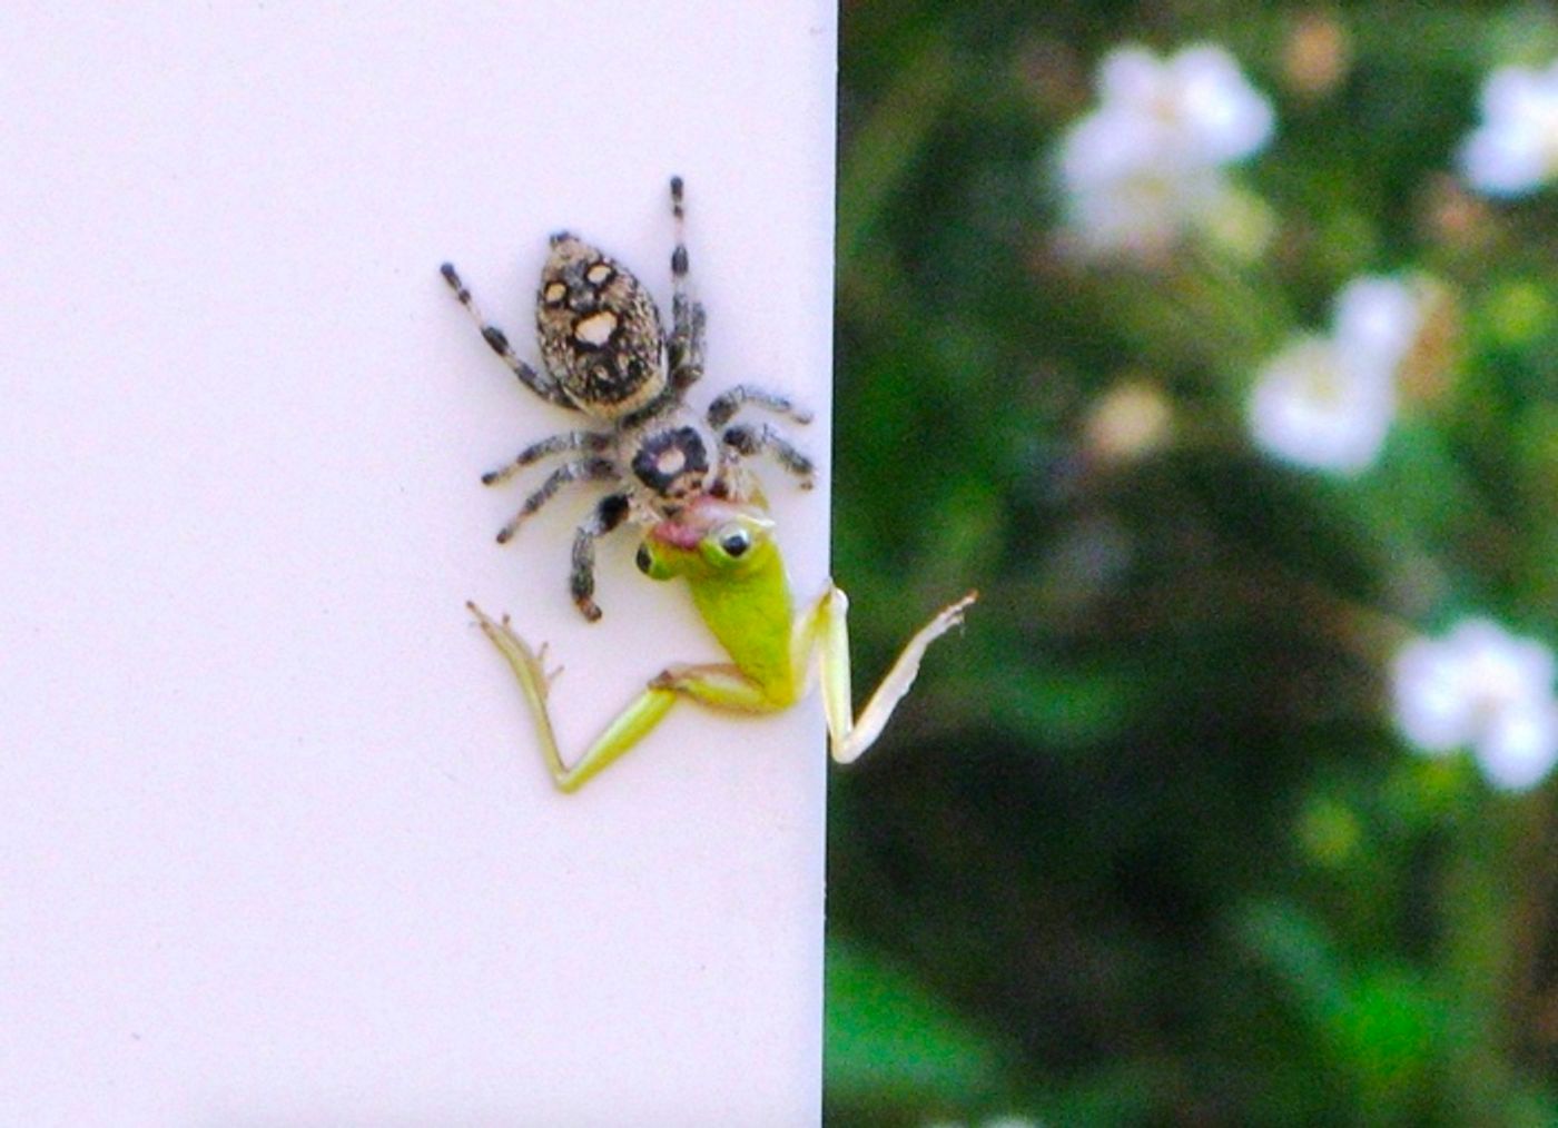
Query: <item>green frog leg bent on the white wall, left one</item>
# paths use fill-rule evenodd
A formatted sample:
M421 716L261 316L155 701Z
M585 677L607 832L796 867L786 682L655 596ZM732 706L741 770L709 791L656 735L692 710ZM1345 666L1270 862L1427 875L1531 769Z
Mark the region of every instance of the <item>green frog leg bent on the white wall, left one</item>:
M542 654L531 650L514 633L508 615L494 620L475 603L467 603L466 608L477 617L481 633L491 639L513 668L525 703L530 706L530 717L536 724L541 756L559 791L576 791L629 753L665 718L679 696L701 701L714 709L737 712L773 712L782 707L734 665L671 665L656 676L648 689L633 698L584 749L584 754L569 765L562 760L556 734L552 729L552 714L547 709L552 676L545 672Z

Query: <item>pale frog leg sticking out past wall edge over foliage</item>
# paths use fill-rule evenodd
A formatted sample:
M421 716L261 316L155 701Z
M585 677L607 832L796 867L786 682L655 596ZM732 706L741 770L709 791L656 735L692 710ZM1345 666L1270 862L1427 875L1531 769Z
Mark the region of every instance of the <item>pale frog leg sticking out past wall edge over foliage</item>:
M876 693L866 701L860 717L854 715L851 701L849 670L849 598L832 583L827 590L804 612L795 625L791 647L796 668L805 668L816 657L816 672L823 682L823 714L827 717L829 746L838 763L860 759L893 717L897 703L904 700L925 648L963 622L963 612L978 592L969 592L957 603L936 612L935 619L921 626L915 637L899 651L893 668L887 672Z

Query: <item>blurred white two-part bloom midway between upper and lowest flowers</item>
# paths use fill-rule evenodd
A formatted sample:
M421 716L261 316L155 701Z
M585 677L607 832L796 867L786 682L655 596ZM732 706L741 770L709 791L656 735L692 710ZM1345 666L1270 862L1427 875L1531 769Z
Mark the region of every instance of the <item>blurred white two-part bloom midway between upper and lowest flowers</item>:
M1384 277L1349 282L1337 294L1331 335L1298 337L1256 377L1256 446L1317 471L1371 466L1396 416L1396 369L1421 327L1421 287Z

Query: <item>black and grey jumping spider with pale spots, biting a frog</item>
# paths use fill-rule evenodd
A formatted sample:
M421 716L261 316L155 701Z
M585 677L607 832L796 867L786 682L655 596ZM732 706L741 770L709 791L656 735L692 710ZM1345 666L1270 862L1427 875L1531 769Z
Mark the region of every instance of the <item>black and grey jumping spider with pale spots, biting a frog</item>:
M502 329L481 316L452 263L444 279L475 318L481 337L520 383L548 404L578 411L597 427L569 430L531 442L519 455L481 475L495 486L550 455L567 455L531 492L497 534L508 542L527 517L570 481L609 481L612 492L573 534L569 586L586 619L595 605L595 541L623 520L653 525L675 517L701 495L745 500L756 489L742 460L770 453L812 486L812 460L768 422L732 422L751 404L798 424L812 416L788 397L742 383L717 396L700 416L684 396L703 375L704 310L689 293L687 243L682 232L682 182L671 178L671 332L645 285L622 263L570 232L552 237L536 293L541 371L520 360Z

